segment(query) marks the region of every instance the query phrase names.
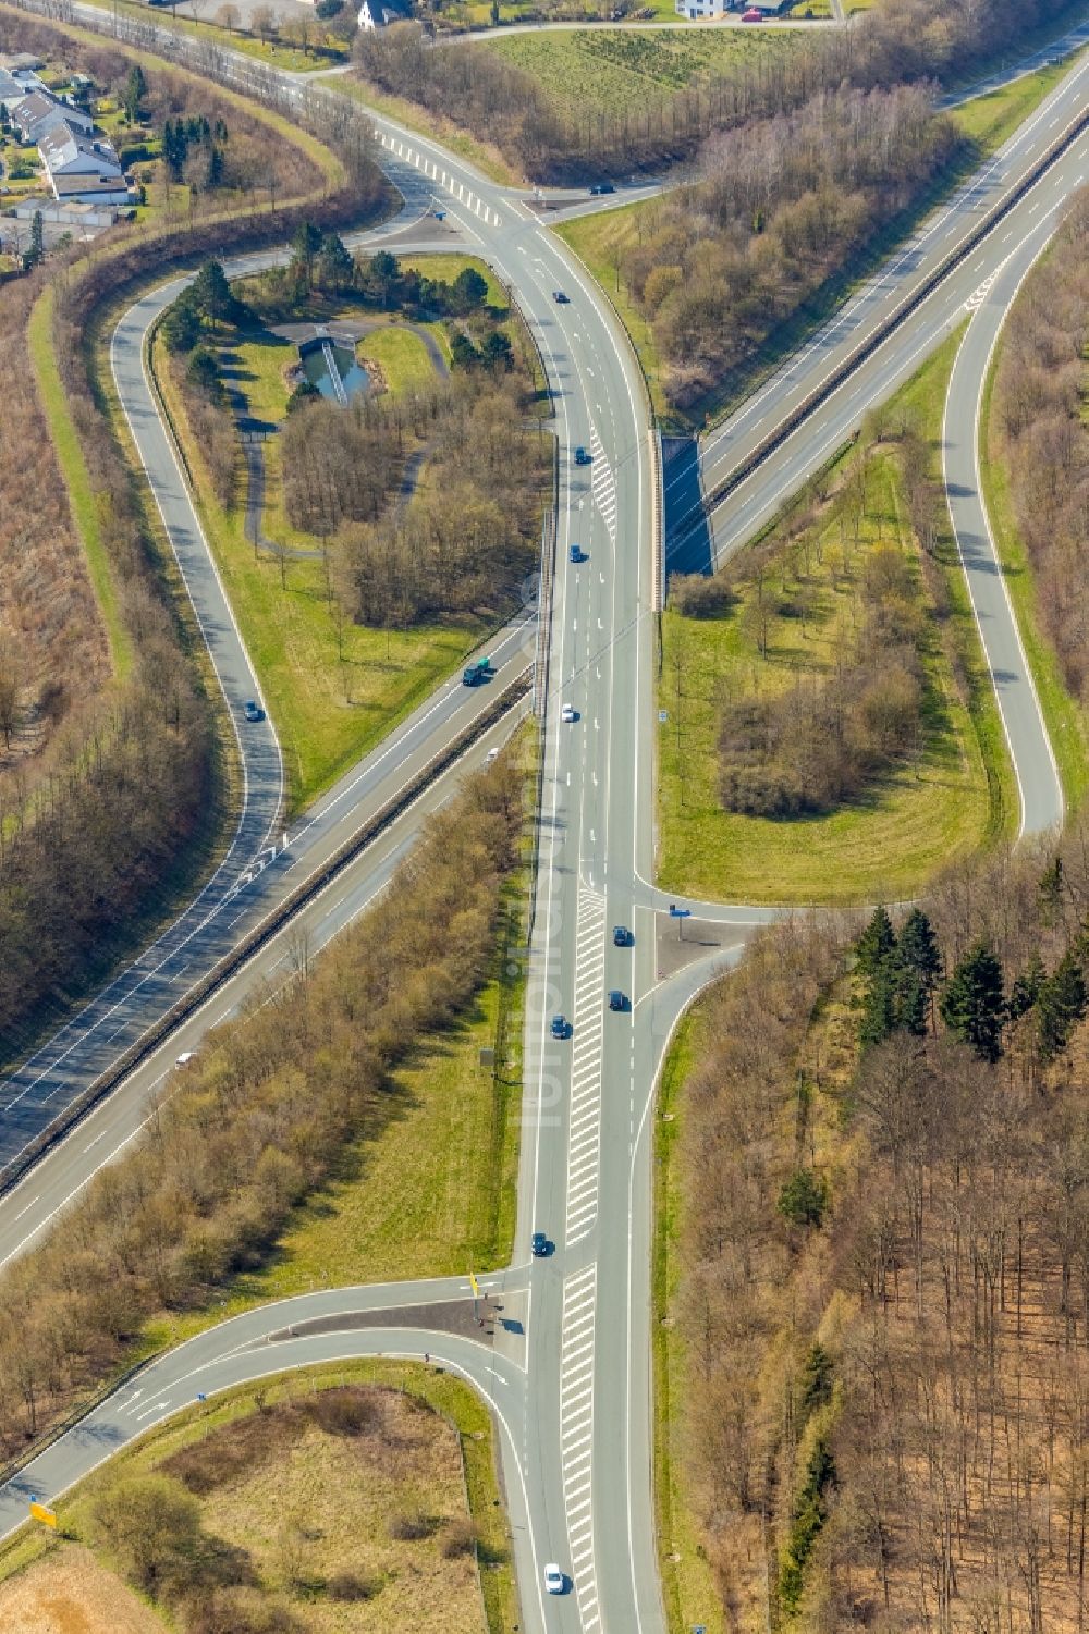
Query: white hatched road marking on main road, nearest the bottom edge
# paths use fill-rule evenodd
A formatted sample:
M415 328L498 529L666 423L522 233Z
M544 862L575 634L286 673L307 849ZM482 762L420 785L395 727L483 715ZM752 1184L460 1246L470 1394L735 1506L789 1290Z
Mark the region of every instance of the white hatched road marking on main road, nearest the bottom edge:
M594 1319L597 1266L577 1271L564 1283L564 1315L559 1348L559 1436L564 1476L564 1515L571 1577L584 1634L600 1627L597 1569L594 1564Z

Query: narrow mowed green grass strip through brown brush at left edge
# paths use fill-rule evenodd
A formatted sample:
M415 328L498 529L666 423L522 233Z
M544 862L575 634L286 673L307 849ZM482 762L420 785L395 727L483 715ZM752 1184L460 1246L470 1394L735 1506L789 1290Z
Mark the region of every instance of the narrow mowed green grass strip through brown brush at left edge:
M60 384L57 359L52 350L52 289L43 291L31 312L26 330L38 395L49 426L49 438L57 454L57 464L72 507L72 518L83 542L87 574L95 592L98 611L110 642L110 657L119 680L132 667L132 639L124 627L118 606L118 590L113 567L101 536L98 498L92 487L83 449L75 431L69 400Z

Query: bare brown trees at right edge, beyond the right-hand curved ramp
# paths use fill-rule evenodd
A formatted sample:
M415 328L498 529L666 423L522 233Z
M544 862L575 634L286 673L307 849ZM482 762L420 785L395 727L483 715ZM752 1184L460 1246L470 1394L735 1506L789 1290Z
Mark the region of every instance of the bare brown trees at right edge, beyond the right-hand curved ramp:
M994 384L997 456L1037 611L1063 680L1089 706L1089 193L1082 191L1006 324Z

